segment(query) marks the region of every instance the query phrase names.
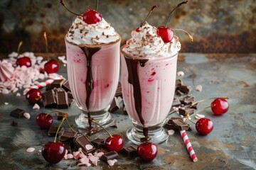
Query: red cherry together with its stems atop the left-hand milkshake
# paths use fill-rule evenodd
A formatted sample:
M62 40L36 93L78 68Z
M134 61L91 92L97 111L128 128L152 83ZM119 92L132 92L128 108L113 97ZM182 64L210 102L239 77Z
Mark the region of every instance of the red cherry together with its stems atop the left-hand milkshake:
M102 14L97 12L97 7L96 11L93 9L87 9L82 15L78 13L74 13L73 11L70 11L67 6L65 5L63 0L60 0L60 4L62 4L70 13L75 14L76 16L82 16L82 21L85 21L87 24L94 24L102 21ZM99 4L99 1L97 1L97 6Z

